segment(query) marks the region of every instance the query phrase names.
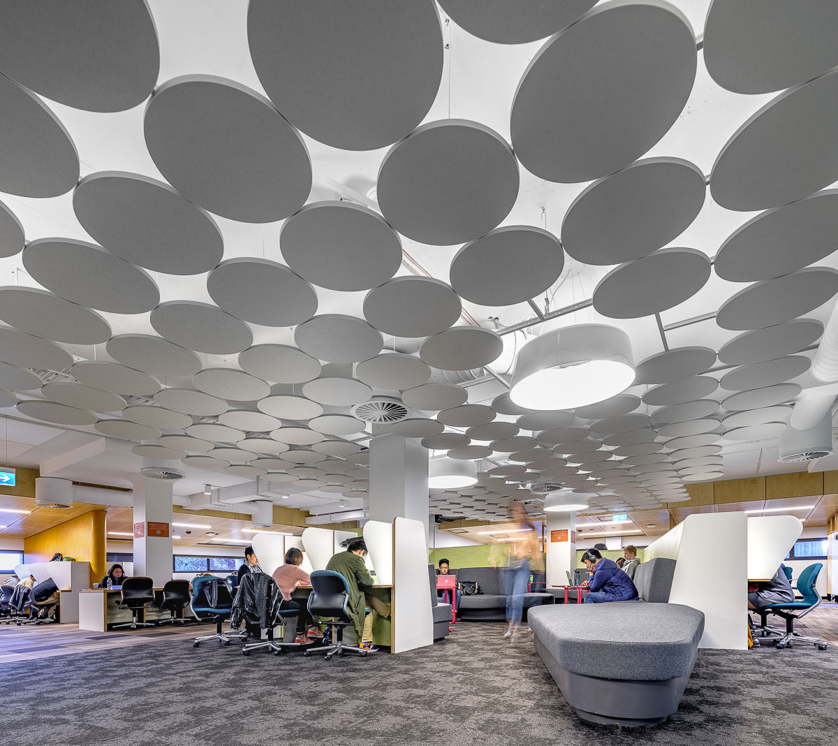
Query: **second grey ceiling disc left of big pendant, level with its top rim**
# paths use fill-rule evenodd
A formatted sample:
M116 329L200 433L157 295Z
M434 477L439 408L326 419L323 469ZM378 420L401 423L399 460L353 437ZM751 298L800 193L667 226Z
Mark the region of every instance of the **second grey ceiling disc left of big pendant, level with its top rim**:
M324 313L294 330L294 342L319 360L357 363L375 357L384 346L381 334L364 319L340 313Z

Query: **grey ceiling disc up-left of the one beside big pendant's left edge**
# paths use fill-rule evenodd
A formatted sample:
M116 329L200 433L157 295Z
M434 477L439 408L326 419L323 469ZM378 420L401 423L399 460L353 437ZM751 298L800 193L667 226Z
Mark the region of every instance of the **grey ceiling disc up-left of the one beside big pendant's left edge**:
M394 277L364 298L364 316L375 329L396 337L429 337L457 322L457 293L433 277Z

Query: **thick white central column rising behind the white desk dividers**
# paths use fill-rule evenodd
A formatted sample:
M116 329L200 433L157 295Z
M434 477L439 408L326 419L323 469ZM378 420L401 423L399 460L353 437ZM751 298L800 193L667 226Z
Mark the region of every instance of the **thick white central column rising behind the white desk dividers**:
M392 523L411 518L425 526L427 544L427 448L413 438L380 435L370 441L370 519Z

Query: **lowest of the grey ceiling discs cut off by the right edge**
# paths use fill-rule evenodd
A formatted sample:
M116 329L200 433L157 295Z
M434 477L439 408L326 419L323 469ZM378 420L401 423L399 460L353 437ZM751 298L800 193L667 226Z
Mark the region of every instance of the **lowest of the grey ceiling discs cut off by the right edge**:
M728 298L716 313L716 324L722 329L764 329L813 311L835 293L838 270L807 267L784 277L755 282Z

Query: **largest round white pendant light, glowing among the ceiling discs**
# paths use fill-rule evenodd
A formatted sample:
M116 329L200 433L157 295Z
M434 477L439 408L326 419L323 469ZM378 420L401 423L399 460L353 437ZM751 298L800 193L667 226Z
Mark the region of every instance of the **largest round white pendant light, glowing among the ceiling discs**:
M605 324L579 324L524 345L510 399L527 409L573 409L616 396L633 381L629 335Z

